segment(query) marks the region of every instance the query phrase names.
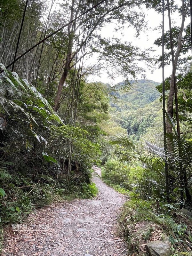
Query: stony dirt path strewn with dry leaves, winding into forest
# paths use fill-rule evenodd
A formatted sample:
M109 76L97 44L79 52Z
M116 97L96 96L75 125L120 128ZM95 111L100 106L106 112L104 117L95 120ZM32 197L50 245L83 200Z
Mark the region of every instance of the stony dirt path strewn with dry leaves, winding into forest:
M100 173L100 168L93 168ZM116 231L119 208L126 201L125 196L99 178L93 181L99 188L96 198L38 210L32 215L29 230L16 231L14 237L6 241L4 252L7 253L2 255L125 256L126 246ZM37 226L39 224L42 226Z

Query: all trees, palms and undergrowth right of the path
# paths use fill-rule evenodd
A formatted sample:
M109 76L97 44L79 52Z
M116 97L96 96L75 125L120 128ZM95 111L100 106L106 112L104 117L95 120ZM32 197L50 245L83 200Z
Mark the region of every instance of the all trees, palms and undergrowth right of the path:
M163 104L161 109L155 109L153 124L140 136L131 130L111 140L115 148L103 166L102 175L104 181L130 197L119 219L120 232L127 240L130 254L144 255L147 242L163 240L171 244L172 255L183 255L192 248L191 106L188 104L191 57L184 56L191 49L189 25L185 26L189 2L181 1L180 6L175 2L166 1L163 5L156 2L150 7L159 13L163 10L163 15L168 11L169 31L163 30L162 37L155 41L163 45L163 54L156 63L163 69L171 63L172 75L165 80L163 76L163 83L156 86ZM181 15L180 27L171 25L171 15L175 12ZM143 119L147 116L148 112ZM126 117L129 119L130 113ZM137 122L140 114L134 117ZM136 132L140 132L139 126ZM116 151L117 147L120 150Z

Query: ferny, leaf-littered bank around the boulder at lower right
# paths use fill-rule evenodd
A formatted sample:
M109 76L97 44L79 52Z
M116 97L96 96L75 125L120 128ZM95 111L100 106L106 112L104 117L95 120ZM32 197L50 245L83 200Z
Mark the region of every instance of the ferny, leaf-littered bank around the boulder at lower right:
M119 218L120 233L124 235L131 253L145 254L145 244L153 240L170 242L172 255L183 255L191 249L191 218L180 212L178 204L143 200L131 192Z

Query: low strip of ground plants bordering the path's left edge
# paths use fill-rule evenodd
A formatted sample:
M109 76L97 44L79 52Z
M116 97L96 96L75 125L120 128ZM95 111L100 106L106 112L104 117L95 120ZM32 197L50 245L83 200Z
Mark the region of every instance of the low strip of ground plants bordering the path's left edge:
M46 178L49 177L44 177ZM6 196L0 199L0 249L3 246L3 228L24 223L30 212L36 208L75 198L91 199L98 193L97 187L92 182L90 184L73 182L67 185L62 180L49 179L44 184L34 185L28 189L20 189L10 184L6 189Z

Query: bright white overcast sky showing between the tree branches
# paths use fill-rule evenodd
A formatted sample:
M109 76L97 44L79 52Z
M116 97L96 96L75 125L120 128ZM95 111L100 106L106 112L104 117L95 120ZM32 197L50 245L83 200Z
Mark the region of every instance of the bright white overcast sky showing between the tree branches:
M179 1L180 2L180 1ZM153 47L156 51L151 53L151 56L154 55L161 55L162 54L162 48L154 45L154 41L162 35L162 30L157 31L154 30L157 26L159 26L162 22L162 15L158 14L154 10L146 10L144 8L144 12L146 13L146 20L148 21L148 29L147 31L141 32L139 38L135 38L134 34L134 28L127 28L124 31L124 36L121 35L121 33L114 33L113 27L111 25L106 26L105 28L102 28L101 30L101 36L103 37L111 37L112 35L120 38L122 41L129 41L132 42L133 45L137 45L140 47L140 49L144 50L145 48ZM174 20L173 20L174 19ZM172 26L173 23L175 25L180 26L180 17L178 17L176 14L172 15ZM185 24L189 23L187 20ZM165 12L165 31L169 30L168 27L168 14ZM144 64L142 64L142 67L145 67ZM146 68L146 67L145 67ZM172 66L165 67L165 77L170 76L172 72ZM138 79L141 79L142 77L138 76ZM162 82L162 69L158 69L158 67L154 67L153 73L151 70L148 70L146 68L146 78L148 80L153 80L155 82ZM101 74L101 76L90 76L90 80L92 81L101 81L103 83L110 83L112 82L107 74ZM115 79L115 83L119 83L124 80L123 76L118 76Z

